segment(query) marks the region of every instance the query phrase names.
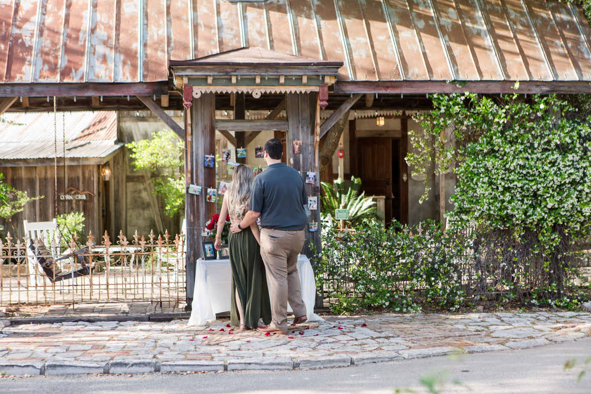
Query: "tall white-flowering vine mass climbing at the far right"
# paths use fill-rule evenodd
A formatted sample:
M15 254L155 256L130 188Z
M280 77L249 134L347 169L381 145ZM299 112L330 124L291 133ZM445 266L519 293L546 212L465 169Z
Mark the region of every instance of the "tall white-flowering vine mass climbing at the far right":
M456 172L448 217L456 229L476 230L476 293L563 299L580 260L575 241L590 234L589 97L464 94L433 102L417 116L423 130L407 160L432 174Z

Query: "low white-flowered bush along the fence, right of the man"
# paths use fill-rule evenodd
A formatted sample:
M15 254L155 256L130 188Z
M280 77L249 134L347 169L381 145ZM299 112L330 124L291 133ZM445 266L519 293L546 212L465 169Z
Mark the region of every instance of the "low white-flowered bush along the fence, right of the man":
M317 283L337 313L362 308L421 311L421 305L457 310L465 299L460 272L466 248L432 222L408 228L363 226L352 233L323 231Z

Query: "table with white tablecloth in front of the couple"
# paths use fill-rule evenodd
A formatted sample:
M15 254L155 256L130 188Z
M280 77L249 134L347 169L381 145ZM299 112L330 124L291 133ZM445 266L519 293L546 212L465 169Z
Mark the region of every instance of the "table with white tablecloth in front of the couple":
M301 297L306 304L308 321L322 320L314 313L316 281L314 281L310 260L306 256L298 256L297 270L300 274ZM269 297L271 297L271 286L269 285L268 288ZM189 325L204 325L208 321L215 321L216 313L228 312L231 302L232 268L229 259L198 259L195 266L195 290ZM292 312L289 302L287 311Z

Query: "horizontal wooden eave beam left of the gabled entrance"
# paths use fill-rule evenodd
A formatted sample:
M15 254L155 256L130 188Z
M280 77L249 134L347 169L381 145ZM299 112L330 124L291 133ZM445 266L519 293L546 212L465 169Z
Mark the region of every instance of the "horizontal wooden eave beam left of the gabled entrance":
M0 83L0 97L167 95L168 81L139 83Z

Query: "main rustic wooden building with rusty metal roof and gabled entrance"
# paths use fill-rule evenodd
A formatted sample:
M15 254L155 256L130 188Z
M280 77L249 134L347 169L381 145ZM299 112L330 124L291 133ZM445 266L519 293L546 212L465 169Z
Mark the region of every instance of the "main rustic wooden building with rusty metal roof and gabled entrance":
M410 224L437 219L436 196L418 205L404 161L417 127L405 111L430 108L427 93L591 93L591 28L556 0L12 0L0 5L0 42L0 114L51 110L48 96L58 110L147 107L185 142L187 181L207 187L215 174L195 155L214 154L217 133L240 147L265 130L305 140L293 165L308 170L350 109L342 172L394 194L389 214ZM184 110L183 126L163 109ZM372 126L380 115L388 122ZM196 231L214 209L202 200L187 194L188 297Z

